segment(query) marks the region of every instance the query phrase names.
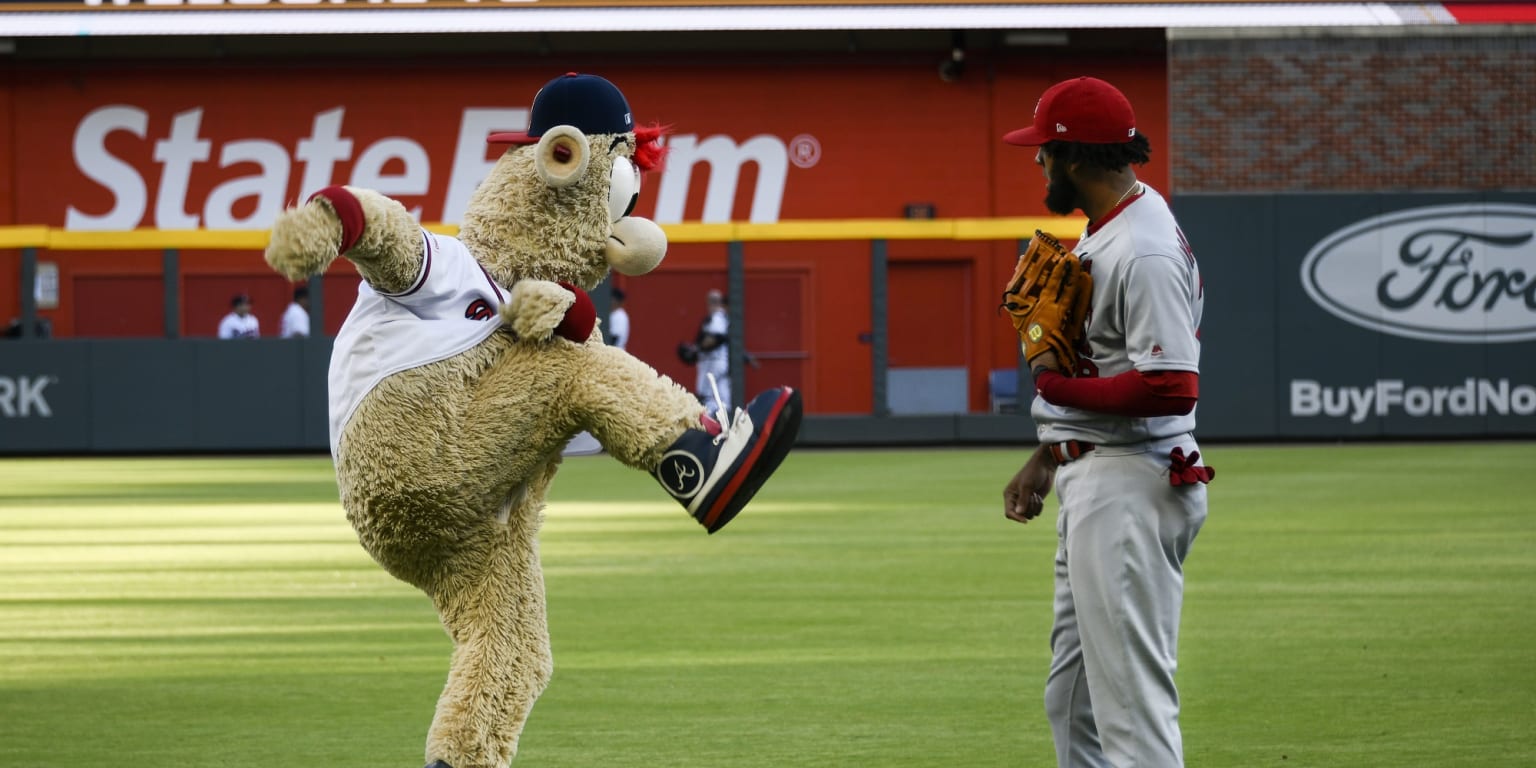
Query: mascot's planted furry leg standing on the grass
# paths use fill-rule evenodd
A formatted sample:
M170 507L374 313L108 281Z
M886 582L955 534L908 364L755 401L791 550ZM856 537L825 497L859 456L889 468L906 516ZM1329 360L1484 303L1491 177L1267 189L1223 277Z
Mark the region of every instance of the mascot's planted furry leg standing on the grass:
M449 680L427 734L444 768L502 768L553 673L536 535L553 465L507 524L487 510L484 547L467 547L432 601L453 639ZM479 562L467 562L479 558Z

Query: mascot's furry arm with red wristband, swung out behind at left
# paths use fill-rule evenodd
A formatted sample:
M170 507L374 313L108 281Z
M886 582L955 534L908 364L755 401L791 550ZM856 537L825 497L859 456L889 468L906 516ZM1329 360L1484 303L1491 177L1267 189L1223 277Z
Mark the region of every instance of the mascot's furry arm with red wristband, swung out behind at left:
M421 224L399 201L370 189L326 187L278 215L267 264L298 281L347 257L381 293L399 293L421 273Z

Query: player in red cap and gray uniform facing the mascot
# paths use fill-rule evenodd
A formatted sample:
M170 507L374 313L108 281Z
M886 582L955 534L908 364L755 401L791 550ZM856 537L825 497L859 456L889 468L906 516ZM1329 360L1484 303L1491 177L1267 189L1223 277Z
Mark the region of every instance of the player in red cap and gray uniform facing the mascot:
M1029 329L1083 333L1068 355L1078 359L1069 369L1026 339L1040 449L1003 492L1018 522L1040 515L1052 484L1061 502L1044 694L1057 763L1181 766L1183 564L1213 476L1192 435L1200 269L1167 203L1130 167L1147 161L1149 143L1109 83L1051 86L1034 124L1003 140L1038 147L1046 207L1081 209L1089 221L1075 249L1091 278L1086 316L1072 316L1072 329Z

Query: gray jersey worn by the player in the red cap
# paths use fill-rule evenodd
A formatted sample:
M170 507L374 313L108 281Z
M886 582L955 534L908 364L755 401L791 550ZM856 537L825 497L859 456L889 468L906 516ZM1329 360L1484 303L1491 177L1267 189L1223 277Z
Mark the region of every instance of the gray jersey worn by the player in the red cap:
M1130 369L1200 373L1204 284L1174 212L1152 187L1141 190L1072 249L1094 275L1087 352L1078 375L1115 376ZM1195 413L1115 416L1052 406L1035 398L1031 415L1041 442L1080 439L1101 445L1184 435Z

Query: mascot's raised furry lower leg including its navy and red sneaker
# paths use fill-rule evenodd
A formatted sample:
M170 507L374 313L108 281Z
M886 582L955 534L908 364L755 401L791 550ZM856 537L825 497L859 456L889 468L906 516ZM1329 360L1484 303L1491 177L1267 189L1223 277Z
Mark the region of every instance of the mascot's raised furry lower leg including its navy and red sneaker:
M571 412L616 459L644 468L700 525L714 533L768 481L800 430L800 393L776 387L725 422L702 413L699 401L628 353L596 344L579 370L607 376L571 382Z

